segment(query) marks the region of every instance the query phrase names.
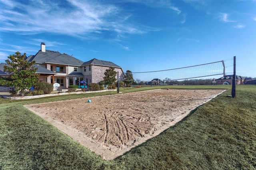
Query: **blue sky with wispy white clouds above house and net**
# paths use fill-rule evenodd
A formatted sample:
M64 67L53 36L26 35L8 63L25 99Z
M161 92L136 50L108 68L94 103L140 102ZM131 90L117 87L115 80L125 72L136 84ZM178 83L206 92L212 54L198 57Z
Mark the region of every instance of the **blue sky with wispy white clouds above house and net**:
M224 60L232 74L236 56L236 74L256 77L256 0L0 0L0 63L41 42L132 72Z

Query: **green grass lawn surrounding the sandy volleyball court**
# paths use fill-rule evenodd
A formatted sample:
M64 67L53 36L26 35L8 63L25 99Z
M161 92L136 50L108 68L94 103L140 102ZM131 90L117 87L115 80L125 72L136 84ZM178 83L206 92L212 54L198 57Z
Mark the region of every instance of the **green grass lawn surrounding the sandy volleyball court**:
M103 160L24 104L111 95L73 94L33 100L0 99L0 169L256 169L256 86L152 86L120 88L227 88L160 135L119 156Z

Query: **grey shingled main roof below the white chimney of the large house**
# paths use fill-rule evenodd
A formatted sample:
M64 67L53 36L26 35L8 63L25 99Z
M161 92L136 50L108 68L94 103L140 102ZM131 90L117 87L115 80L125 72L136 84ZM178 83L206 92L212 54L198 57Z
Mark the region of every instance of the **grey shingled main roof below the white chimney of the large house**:
M28 61L36 61L37 64L50 63L50 64L62 64L70 66L80 66L84 62L78 60L65 53L61 54L58 51L46 50L42 52L38 51L36 55L30 55L27 59Z

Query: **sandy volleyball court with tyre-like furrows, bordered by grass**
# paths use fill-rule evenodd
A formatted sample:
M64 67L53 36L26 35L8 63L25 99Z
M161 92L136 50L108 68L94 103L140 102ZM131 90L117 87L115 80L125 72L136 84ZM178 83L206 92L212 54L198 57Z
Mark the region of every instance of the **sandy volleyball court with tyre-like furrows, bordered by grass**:
M161 89L25 107L102 158L112 160L224 91Z

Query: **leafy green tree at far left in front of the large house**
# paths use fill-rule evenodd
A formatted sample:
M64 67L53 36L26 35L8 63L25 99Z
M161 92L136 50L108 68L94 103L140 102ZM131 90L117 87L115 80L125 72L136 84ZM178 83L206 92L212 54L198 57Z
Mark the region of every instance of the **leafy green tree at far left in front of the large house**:
M17 91L20 91L21 96L24 96L24 90L32 87L38 82L39 75L36 74L37 68L33 66L35 61L28 62L26 53L21 55L16 52L14 55L9 55L5 61L7 65L4 66L4 72L11 73L10 77L0 77L0 84L6 86L15 86Z

